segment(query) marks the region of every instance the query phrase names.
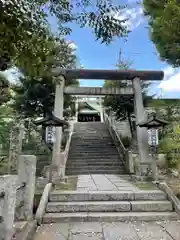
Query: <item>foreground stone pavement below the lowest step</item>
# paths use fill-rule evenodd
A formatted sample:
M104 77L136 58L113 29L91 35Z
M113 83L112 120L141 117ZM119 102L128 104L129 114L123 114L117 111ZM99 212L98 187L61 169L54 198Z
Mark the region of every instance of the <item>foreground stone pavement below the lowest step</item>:
M74 222L42 225L34 240L179 240L176 222Z

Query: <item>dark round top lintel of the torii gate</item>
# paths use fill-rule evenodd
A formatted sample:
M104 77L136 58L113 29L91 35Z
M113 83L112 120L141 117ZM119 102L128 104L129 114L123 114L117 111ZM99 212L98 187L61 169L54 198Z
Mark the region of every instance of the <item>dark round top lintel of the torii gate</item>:
M141 80L162 80L163 71L136 71L136 70L100 70L100 69L67 69L56 68L54 76L63 75L65 78L76 79L103 79L103 80L133 80L139 77Z

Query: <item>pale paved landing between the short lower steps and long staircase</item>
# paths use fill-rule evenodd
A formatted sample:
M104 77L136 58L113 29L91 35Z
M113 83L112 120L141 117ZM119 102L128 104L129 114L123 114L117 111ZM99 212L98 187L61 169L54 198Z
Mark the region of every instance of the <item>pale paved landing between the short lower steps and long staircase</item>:
M127 179L127 180L126 180ZM78 191L139 191L139 188L128 181L128 176L119 175L79 175Z

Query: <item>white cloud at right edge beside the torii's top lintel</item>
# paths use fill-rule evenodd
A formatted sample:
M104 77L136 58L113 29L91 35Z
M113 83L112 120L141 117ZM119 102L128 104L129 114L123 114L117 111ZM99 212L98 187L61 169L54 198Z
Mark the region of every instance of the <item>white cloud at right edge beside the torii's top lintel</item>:
M162 81L158 88L165 92L180 92L180 69L167 67L164 69L164 81Z

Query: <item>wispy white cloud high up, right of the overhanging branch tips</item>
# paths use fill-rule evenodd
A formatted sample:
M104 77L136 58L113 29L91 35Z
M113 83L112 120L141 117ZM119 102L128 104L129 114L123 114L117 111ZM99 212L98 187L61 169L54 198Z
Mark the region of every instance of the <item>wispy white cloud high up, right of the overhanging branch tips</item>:
M143 9L141 7L124 9L122 12L117 13L115 18L127 20L123 24L132 31L143 22Z

